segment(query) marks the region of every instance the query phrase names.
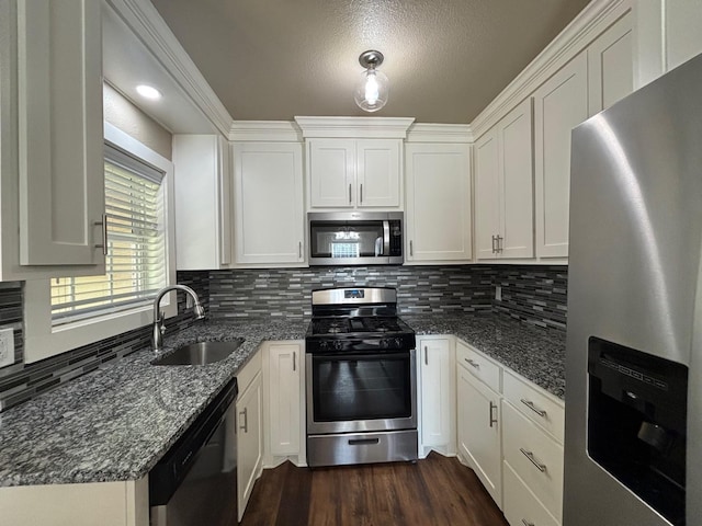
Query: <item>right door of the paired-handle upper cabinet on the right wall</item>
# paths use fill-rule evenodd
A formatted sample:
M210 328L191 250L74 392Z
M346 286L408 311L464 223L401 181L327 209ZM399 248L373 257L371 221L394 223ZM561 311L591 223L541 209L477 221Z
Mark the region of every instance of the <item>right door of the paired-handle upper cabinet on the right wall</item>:
M500 122L501 258L533 258L532 100L526 99Z

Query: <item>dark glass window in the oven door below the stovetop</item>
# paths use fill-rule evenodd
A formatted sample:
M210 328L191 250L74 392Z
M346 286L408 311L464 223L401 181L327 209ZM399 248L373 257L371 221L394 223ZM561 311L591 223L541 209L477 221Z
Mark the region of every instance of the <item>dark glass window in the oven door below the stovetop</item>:
M410 353L313 357L315 422L412 415Z

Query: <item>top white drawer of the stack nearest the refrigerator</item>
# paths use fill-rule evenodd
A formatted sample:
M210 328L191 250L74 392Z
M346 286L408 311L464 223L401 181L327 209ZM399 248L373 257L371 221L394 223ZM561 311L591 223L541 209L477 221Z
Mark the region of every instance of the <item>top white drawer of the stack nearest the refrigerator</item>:
M502 381L505 398L520 413L541 425L558 443L563 444L565 430L565 409L563 404L509 371L505 371Z

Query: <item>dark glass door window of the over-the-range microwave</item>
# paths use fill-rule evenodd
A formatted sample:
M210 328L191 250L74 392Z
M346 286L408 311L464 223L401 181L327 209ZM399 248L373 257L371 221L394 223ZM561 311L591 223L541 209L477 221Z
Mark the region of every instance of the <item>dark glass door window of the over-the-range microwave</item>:
M312 221L313 258L374 258L383 255L383 221Z

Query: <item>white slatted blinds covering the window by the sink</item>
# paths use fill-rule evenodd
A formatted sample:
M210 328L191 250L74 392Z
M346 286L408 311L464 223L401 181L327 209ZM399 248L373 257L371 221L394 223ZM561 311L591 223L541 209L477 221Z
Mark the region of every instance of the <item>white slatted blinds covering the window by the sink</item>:
M105 145L106 274L52 279L54 325L148 302L167 283L163 174Z

